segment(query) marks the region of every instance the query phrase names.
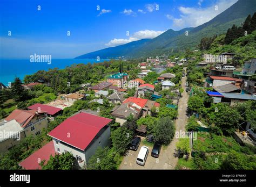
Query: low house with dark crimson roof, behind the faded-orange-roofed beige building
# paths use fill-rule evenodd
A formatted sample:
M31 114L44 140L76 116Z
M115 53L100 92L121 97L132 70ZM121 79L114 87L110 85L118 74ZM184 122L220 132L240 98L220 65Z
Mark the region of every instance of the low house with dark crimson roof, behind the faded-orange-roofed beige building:
M28 107L30 110L37 110L37 111L45 111L48 118L54 120L55 117L59 116L62 113L62 109L48 106L41 103L36 103Z

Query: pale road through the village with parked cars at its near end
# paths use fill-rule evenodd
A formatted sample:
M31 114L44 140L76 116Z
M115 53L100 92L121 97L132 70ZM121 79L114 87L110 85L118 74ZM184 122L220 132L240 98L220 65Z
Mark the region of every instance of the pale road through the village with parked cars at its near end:
M186 77L183 77L181 80L181 87L184 89L184 92L179 100L178 119L175 121L176 131L185 131L185 126L187 123L186 110L188 94L185 92L185 82ZM143 143L140 143L140 146L136 152L129 150L129 153L124 157L122 163L120 164L119 169L174 169L178 162L178 158L174 156L174 153L176 153L177 142L178 139L174 137L169 146L164 149L162 147L158 160L151 156L152 147L149 147L150 152L147 156L144 167L136 164L136 158L139 154L140 147L143 146Z

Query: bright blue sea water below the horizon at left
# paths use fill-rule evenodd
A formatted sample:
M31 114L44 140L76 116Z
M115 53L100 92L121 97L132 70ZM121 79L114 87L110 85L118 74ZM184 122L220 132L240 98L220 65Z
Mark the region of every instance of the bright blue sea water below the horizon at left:
M13 82L15 77L24 79L25 75L31 75L38 70L49 70L53 68L64 69L72 64L79 63L94 63L109 61L109 59L52 59L51 64L47 62L30 62L30 59L19 60L4 60L0 59L0 82L4 85L8 85L8 82Z

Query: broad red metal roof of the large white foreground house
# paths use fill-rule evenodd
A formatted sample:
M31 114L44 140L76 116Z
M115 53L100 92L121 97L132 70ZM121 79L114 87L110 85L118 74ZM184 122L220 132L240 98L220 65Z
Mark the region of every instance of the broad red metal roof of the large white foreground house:
M85 150L99 131L111 121L112 119L81 112L63 121L48 135Z

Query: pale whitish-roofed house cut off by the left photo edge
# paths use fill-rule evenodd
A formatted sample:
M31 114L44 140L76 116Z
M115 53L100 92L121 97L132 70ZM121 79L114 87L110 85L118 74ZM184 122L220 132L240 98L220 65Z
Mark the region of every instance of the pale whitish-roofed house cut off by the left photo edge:
M25 138L24 129L15 119L1 121L0 132L0 153L7 152Z

